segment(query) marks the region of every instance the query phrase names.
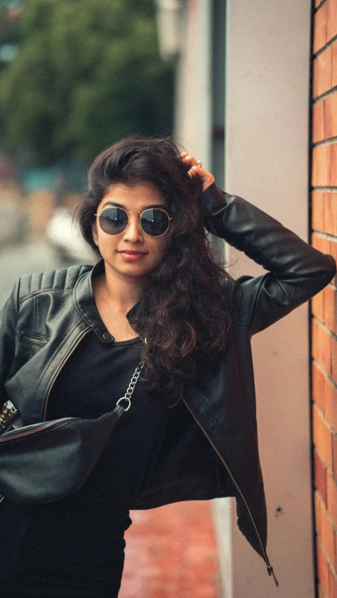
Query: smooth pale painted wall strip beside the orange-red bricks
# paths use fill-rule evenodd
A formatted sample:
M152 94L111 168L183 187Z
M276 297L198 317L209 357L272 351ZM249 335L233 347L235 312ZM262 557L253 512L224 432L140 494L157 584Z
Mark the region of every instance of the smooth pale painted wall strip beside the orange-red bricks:
M227 0L226 191L243 196L308 240L310 0ZM231 269L263 269L230 250ZM253 338L267 552L262 559L236 526L230 499L216 505L225 598L315 595L312 562L308 306ZM282 515L277 515L277 508ZM228 579L229 578L229 579Z

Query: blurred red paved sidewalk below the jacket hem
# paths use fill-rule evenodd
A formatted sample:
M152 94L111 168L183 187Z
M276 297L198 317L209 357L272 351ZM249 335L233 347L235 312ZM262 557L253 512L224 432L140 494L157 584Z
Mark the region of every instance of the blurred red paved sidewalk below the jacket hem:
M211 503L132 511L119 598L220 598Z

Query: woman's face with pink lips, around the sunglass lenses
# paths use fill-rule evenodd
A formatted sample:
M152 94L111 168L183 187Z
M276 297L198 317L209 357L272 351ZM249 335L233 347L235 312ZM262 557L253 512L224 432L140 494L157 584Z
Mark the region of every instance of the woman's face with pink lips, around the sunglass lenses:
M114 184L110 186L97 207L96 214L103 208L123 208L128 215L126 229L117 235L105 233L96 216L93 224L93 240L105 261L105 272L122 278L142 279L161 261L164 255L165 235L147 236L140 227L140 213L147 208L164 208L166 201L159 189L151 183L134 186Z

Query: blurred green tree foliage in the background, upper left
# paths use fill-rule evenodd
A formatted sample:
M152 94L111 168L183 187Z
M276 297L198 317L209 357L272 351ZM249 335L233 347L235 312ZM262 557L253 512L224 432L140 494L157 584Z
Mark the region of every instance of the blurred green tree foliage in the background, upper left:
M0 72L0 138L34 163L88 163L130 134L169 134L172 68L152 0L27 0Z

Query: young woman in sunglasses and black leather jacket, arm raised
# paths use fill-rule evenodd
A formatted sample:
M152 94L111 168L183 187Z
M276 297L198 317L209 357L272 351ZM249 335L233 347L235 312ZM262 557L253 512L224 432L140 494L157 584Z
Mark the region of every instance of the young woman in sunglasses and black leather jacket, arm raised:
M145 365L80 491L2 501L1 596L117 597L129 509L216 496L236 497L239 529L274 576L250 339L322 290L335 261L221 192L168 139L103 151L79 219L100 261L15 285L2 311L1 395L24 425L97 418ZM267 273L232 280L205 229Z

